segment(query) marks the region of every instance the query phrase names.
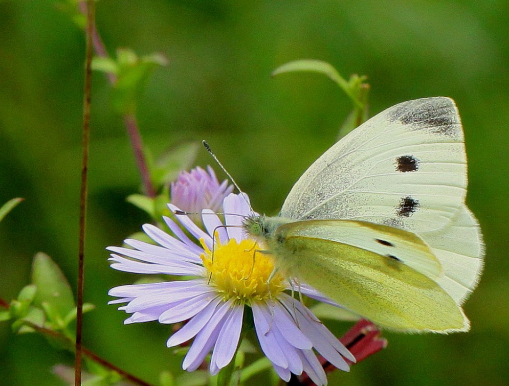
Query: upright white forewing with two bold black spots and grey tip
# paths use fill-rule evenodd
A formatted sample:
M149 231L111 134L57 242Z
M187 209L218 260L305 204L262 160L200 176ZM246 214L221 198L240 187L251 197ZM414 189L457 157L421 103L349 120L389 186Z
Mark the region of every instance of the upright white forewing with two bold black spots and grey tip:
M466 176L454 102L441 97L404 102L327 150L297 181L281 216L434 231L463 205Z

